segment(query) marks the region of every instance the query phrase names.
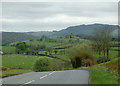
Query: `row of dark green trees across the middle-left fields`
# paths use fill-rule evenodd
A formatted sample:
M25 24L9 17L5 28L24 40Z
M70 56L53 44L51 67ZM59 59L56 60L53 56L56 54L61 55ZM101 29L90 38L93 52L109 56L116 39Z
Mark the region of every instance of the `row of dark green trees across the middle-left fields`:
M54 54L58 53L57 49L52 47L46 47L45 44L41 45L27 45L25 42L18 42L16 45L16 53L17 54L26 54L26 55L38 55L39 51L43 50L46 51L45 54L51 55L53 52ZM60 51L61 54L65 54L65 50Z

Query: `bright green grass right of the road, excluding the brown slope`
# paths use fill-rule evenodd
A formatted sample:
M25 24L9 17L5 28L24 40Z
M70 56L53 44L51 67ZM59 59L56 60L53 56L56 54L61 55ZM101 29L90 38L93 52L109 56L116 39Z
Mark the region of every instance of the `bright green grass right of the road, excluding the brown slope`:
M118 84L118 77L113 75L106 67L94 66L78 69L90 72L90 84Z

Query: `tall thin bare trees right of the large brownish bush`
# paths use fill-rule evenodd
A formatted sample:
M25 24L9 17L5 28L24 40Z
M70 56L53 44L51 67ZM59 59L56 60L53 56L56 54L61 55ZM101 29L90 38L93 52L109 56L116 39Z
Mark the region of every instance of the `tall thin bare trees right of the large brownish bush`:
M104 28L103 30L97 32L93 37L93 49L98 52L99 57L101 57L101 52L103 52L104 57L107 54L107 58L109 58L109 50L112 40L110 30L110 28Z

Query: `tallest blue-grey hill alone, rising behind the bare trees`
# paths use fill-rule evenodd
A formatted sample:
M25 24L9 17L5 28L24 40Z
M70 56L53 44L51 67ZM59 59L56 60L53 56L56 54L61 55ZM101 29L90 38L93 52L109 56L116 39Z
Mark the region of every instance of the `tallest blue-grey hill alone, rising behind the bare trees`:
M96 32L102 29L110 29L111 32L118 29L117 25L107 25L107 24L91 24L91 25L79 25L79 26L71 26L61 31L52 32L50 37L59 37L65 35L84 35L84 36L92 36Z

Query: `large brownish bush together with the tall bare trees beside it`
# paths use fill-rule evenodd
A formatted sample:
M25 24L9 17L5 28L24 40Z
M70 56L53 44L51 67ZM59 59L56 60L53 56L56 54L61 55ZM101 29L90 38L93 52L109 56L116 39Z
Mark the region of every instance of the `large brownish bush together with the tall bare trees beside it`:
M97 32L92 37L92 41L92 46L88 45L88 47L80 44L84 47L80 48L79 46L77 46L71 49L69 54L73 68L94 65L96 64L96 60L98 63L110 61L109 51L112 43L110 29L105 28ZM87 50L89 51L87 52ZM94 58L93 53L90 53L90 51L92 50L98 53L98 59Z

